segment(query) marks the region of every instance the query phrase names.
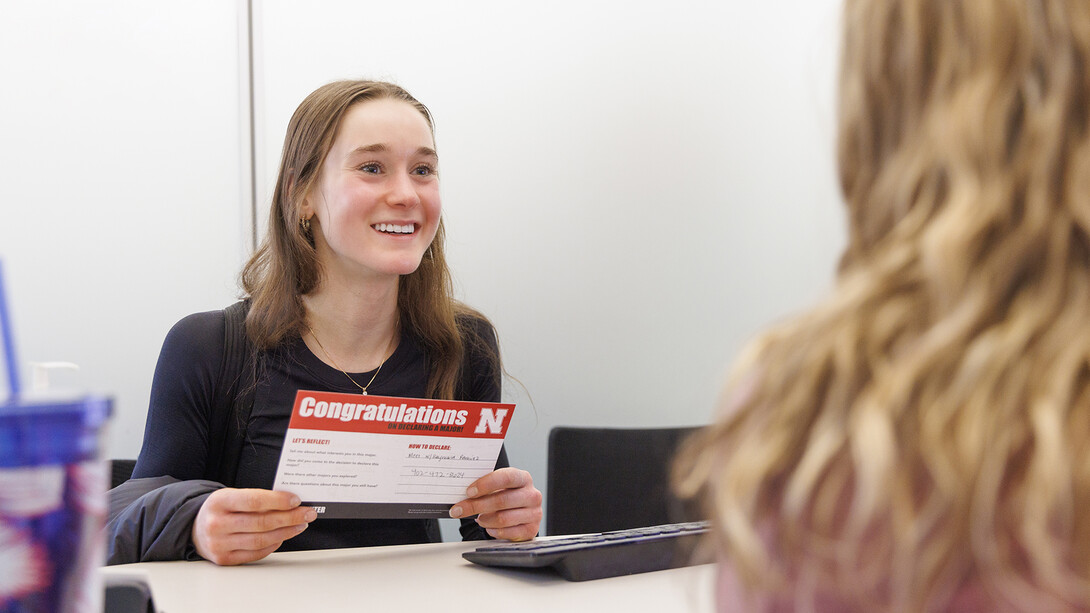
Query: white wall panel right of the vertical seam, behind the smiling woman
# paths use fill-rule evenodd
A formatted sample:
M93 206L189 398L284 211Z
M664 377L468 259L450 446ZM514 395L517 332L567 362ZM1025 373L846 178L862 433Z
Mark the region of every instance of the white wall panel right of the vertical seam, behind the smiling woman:
M428 105L451 265L544 491L552 426L705 423L743 339L827 286L838 4L262 2L261 184L326 81Z

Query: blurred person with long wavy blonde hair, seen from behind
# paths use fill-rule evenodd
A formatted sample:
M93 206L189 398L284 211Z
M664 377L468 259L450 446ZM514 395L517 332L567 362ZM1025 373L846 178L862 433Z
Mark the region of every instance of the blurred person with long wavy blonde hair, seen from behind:
M1088 610L1090 2L843 19L835 290L742 353L677 491L800 610Z

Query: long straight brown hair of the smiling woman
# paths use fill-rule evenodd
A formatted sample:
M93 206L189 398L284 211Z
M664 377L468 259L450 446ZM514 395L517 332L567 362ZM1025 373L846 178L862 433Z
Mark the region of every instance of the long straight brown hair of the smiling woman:
M322 164L332 147L341 118L353 105L391 98L412 105L435 125L427 107L402 87L380 81L337 81L315 89L295 109L288 123L272 193L268 233L242 269L241 281L250 296L246 334L257 349L267 350L306 329L302 296L313 291L322 267L313 239L300 225L303 197L317 182ZM472 320L484 316L453 299L450 271L444 255L443 220L420 266L402 275L398 313L424 344L431 374L428 394L452 398L462 366L464 342L488 344L479 338ZM498 356L487 353L498 362Z

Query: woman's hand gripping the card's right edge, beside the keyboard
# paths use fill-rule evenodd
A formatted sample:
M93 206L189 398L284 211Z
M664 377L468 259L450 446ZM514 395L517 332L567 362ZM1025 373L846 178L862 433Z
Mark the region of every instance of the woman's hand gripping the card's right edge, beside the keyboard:
M497 539L529 541L542 522L542 493L525 470L501 468L470 483L465 500L450 508L451 517L471 515Z

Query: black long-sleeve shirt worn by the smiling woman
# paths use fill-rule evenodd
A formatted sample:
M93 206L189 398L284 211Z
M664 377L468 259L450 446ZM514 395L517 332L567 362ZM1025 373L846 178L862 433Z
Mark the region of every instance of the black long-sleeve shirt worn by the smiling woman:
M162 488L172 492L156 491L132 500L128 496L111 500L109 537L120 539L117 546L111 546L111 563L137 561L120 554L125 549L133 549L125 546L126 543L134 543L135 549L142 551L148 549L147 543L166 543L152 554L141 553L141 560L193 556L189 530L204 497L218 485L201 479L209 455L206 416L216 396L225 325L222 311L196 313L175 324L164 341L152 385L144 443L133 478L170 477L170 483ZM492 326L480 320L473 325L496 354ZM465 366L456 399L499 401L496 360L474 344L465 345ZM373 373L349 374L358 382L366 382ZM367 392L423 398L426 397L428 373L428 359L421 344L412 334L403 333L393 354L383 364ZM271 489L299 389L360 392L344 373L314 356L300 337L259 353L254 405L237 478L233 483L223 485ZM497 468L507 465L507 455L501 450ZM159 481L155 483L158 485ZM122 504L123 509L116 508ZM472 519L462 520L461 532L467 540L488 538ZM320 519L286 541L280 551L421 543L438 539L435 519ZM179 545L184 546L179 550ZM114 550L119 555L112 555Z

